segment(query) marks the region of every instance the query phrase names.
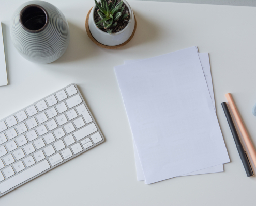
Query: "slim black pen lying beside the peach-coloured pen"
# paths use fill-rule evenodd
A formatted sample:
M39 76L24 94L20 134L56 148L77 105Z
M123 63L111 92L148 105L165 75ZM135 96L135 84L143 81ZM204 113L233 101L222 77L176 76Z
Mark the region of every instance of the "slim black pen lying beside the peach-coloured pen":
M222 108L224 110L224 113L225 113L225 116L227 118L227 121L229 123L229 127L230 127L231 133L233 135L237 151L238 151L239 156L240 156L240 158L242 160L242 163L243 163L243 165L245 167L245 171L246 171L247 177L251 177L251 176L253 176L253 171L252 171L249 159L247 157L247 154L246 154L246 152L245 152L245 150L243 148L243 145L240 142L239 136L238 136L237 131L235 129L235 125L234 125L233 119L232 119L232 117L230 115L227 103L223 102L223 103L221 103L221 105L222 105Z

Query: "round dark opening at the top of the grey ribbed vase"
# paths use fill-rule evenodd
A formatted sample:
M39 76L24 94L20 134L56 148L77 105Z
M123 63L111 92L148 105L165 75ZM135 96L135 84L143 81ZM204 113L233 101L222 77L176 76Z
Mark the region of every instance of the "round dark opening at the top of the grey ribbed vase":
M31 32L41 31L48 23L47 12L39 5L28 5L20 12L22 26Z

